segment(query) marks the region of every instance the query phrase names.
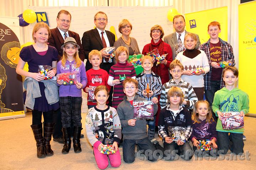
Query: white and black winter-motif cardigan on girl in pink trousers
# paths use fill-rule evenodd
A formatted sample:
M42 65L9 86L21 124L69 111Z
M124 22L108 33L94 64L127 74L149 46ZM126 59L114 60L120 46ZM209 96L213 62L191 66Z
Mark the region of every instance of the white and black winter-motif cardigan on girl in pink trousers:
M116 109L108 106L105 110L90 108L85 120L86 135L92 146L119 143L121 124ZM100 142L98 142L100 141ZM96 146L97 144L97 146Z

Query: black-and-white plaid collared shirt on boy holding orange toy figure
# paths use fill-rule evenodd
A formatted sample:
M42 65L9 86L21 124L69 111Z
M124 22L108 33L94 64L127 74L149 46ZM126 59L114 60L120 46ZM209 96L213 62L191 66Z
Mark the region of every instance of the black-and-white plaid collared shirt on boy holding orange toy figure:
M136 80L139 82L139 88L137 95L145 98L146 100L152 100L153 97L157 97L161 94L162 91L162 81L159 75L156 75L154 72L151 72L151 76L149 77L149 90L153 91L152 97L144 97L142 94L143 90L146 90L147 80L146 73L142 72L136 76Z

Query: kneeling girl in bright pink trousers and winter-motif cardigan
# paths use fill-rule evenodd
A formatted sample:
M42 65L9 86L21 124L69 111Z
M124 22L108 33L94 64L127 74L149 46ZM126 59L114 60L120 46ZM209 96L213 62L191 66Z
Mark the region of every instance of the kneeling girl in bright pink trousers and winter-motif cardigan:
M121 123L115 108L107 106L108 88L100 85L94 91L97 105L90 108L85 121L86 135L93 146L94 156L98 168L106 169L108 159L112 167L121 165L118 143L121 139ZM104 145L112 145L116 153L101 153Z

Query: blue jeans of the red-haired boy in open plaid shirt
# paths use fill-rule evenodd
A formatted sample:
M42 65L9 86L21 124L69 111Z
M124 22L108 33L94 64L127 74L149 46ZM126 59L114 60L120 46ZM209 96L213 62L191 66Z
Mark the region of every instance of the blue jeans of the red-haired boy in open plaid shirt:
M209 102L211 110L212 110L212 103L213 103L214 94L218 90L220 90L220 80L219 81L211 81L210 82L210 90L204 90L206 100ZM212 113L213 113L213 111L212 111ZM215 121L218 120L215 113L213 113L213 118L214 118Z

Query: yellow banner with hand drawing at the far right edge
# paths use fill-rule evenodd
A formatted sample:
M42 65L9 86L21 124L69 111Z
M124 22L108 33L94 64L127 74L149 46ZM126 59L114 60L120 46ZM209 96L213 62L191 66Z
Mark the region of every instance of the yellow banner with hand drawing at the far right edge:
M250 98L250 114L256 114L256 1L238 6L239 80L238 86Z

